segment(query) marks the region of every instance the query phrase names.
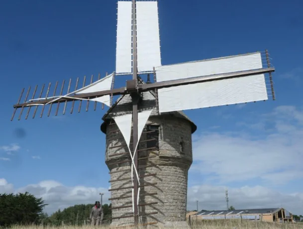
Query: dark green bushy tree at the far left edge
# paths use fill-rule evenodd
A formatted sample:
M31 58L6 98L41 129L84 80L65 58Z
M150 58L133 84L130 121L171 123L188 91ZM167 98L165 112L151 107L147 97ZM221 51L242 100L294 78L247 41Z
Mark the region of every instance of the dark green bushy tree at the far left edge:
M46 205L42 198L36 198L28 192L0 194L0 226L38 223Z

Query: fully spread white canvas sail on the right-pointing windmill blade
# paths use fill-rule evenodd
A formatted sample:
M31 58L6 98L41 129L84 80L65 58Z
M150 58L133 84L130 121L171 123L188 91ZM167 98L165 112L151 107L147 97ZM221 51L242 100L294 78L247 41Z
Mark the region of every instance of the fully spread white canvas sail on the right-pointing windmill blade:
M157 82L262 69L261 53L209 59L156 68ZM158 90L159 112L200 109L267 100L264 74Z

